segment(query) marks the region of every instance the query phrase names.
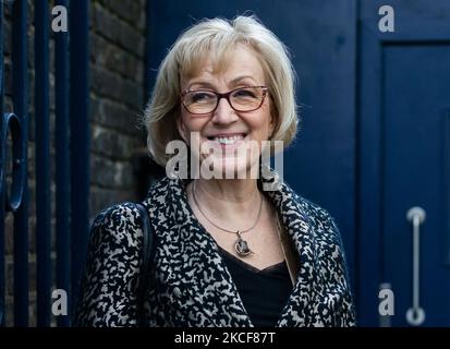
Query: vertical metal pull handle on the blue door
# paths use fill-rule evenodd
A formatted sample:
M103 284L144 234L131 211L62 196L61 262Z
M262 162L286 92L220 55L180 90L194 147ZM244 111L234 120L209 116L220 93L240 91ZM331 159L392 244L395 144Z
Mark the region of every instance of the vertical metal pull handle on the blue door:
M418 206L406 213L408 221L413 225L413 306L406 311L406 321L412 326L419 326L425 321L425 310L419 305L421 225L425 218L425 209Z

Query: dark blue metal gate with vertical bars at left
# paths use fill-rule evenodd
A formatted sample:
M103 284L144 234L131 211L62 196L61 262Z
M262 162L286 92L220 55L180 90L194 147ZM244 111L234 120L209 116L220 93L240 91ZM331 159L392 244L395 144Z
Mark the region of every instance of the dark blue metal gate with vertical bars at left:
M48 0L14 0L0 3L0 325L7 324L5 238L13 236L13 313L15 326L29 323L29 231L28 208L36 204L36 308L37 325L49 326L52 290L68 294L68 315L58 316L59 326L70 325L70 300L77 292L77 280L88 234L88 1L56 0L68 11L69 31L51 33ZM5 56L4 9L11 12L12 49ZM32 11L29 11L32 10ZM33 12L34 17L27 17ZM33 25L34 22L34 25ZM34 28L34 68L28 67L28 35ZM54 57L49 39L54 38ZM12 109L4 105L5 60L12 65ZM49 61L54 59L54 130L50 131ZM34 85L28 76L34 73ZM31 92L34 92L32 94ZM31 96L34 99L31 100ZM34 115L29 113L34 110ZM31 120L34 120L35 152L28 154ZM54 155L50 136L54 132ZM54 156L54 229L51 207L51 156ZM34 157L35 169L27 161ZM36 197L32 202L28 176L35 178ZM5 220L13 217L12 229ZM11 230L11 231L10 231ZM52 234L54 230L54 234ZM52 266L52 237L56 267ZM54 274L56 273L56 274ZM53 276L56 275L54 282Z

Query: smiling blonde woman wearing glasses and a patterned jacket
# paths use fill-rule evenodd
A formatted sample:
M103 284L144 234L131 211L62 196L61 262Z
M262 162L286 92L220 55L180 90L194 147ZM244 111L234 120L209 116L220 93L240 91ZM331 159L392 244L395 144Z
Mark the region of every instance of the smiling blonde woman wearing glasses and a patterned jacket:
M148 146L167 166L166 149L181 140L199 170L191 160L188 178L181 163L167 168L144 202L156 238L146 325L354 325L332 218L288 184L265 191L253 176L265 142L289 145L296 123L287 49L254 17L203 21L172 46L146 110ZM78 325L138 323L141 218L121 204L95 220Z

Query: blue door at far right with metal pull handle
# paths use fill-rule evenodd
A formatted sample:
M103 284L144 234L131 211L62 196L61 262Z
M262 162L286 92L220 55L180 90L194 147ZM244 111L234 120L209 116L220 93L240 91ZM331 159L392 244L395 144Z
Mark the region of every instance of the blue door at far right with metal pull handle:
M361 26L361 324L450 326L450 23L394 10Z

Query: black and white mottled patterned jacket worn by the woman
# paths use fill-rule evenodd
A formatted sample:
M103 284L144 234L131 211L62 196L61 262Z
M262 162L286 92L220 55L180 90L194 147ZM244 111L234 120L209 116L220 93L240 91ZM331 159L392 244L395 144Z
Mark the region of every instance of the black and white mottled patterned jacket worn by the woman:
M323 208L285 183L267 192L300 255L297 281L277 326L353 326L341 238ZM157 236L146 296L149 326L253 326L218 245L195 218L181 179L165 178L144 202ZM142 220L123 203L97 216L75 313L78 326L133 326Z

